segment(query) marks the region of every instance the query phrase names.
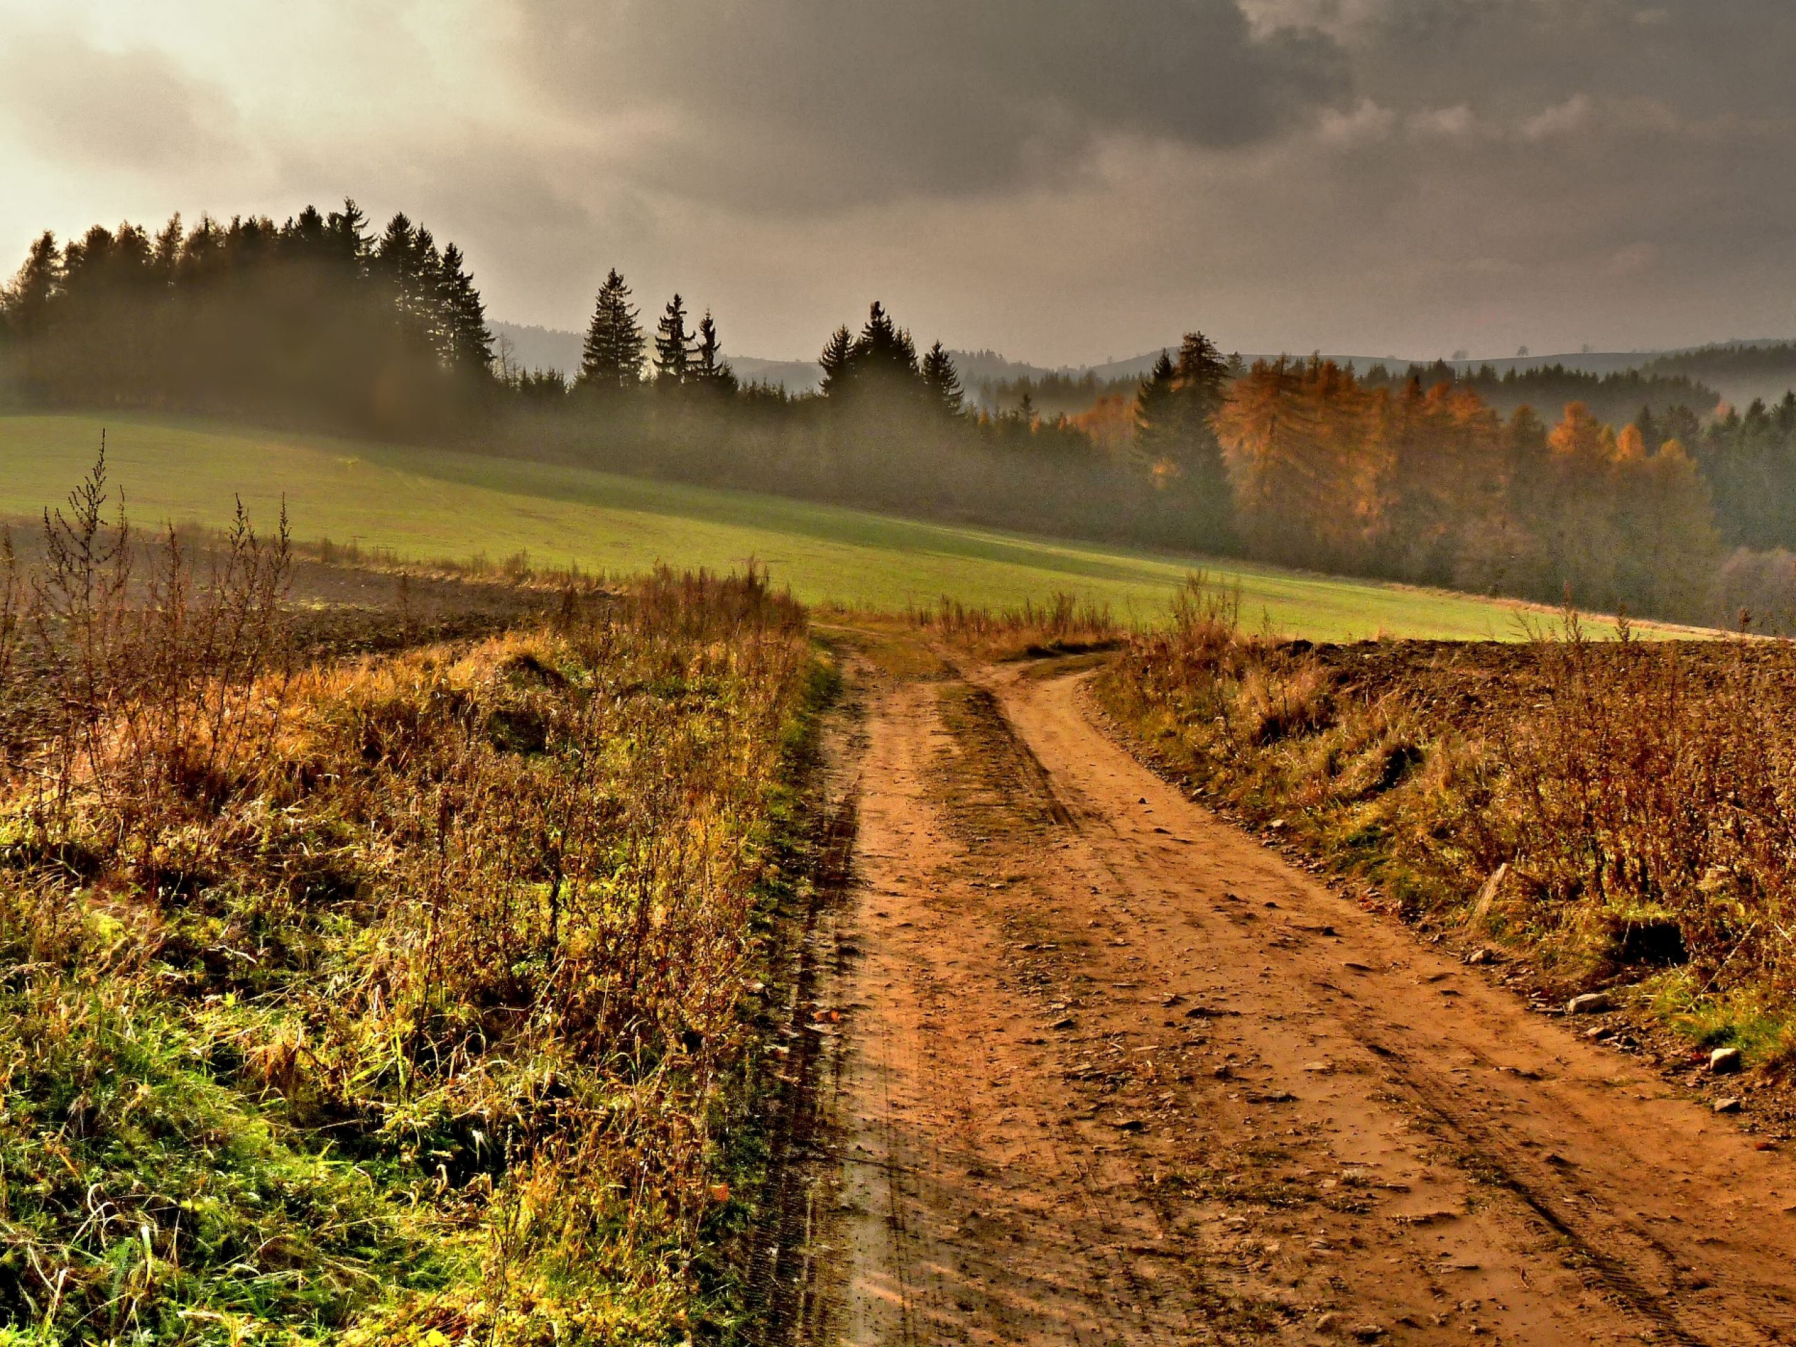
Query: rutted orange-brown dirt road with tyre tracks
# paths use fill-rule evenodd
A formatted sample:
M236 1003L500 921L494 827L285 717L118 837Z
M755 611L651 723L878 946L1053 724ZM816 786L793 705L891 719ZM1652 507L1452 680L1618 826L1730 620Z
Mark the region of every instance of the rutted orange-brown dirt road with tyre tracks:
M1789 1158L1042 674L875 675L806 1340L1796 1338Z

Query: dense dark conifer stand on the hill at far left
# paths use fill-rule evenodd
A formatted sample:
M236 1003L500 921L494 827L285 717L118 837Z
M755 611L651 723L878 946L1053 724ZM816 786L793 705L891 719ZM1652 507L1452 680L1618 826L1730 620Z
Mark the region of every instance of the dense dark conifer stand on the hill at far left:
M447 422L490 383L487 311L462 250L354 201L286 223L180 216L156 233L43 233L0 293L23 401Z

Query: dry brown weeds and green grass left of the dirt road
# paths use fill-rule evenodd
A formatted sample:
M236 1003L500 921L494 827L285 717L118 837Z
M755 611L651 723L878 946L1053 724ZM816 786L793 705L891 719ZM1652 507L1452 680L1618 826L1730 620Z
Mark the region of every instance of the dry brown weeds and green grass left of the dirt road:
M801 609L318 661L284 523L196 566L104 494L0 577L0 1340L727 1336Z

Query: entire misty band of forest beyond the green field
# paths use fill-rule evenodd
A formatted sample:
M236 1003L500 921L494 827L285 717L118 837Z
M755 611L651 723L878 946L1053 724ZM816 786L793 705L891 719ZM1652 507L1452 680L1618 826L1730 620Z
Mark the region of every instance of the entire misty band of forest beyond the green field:
M1796 607L1796 395L1722 408L1670 366L1246 366L1200 332L1140 381L966 383L878 302L830 334L815 392L744 379L709 313L675 295L645 318L616 269L578 370L528 368L453 242L352 201L45 233L0 295L16 408L456 444L1663 618Z

